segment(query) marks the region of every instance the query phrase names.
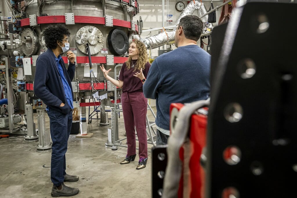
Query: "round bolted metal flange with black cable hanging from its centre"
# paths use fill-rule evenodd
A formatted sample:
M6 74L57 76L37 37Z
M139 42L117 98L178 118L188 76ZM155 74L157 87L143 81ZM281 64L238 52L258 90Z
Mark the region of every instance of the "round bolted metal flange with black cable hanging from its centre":
M75 35L78 49L87 54L86 43L89 43L91 55L97 54L103 47L103 34L94 26L83 26Z

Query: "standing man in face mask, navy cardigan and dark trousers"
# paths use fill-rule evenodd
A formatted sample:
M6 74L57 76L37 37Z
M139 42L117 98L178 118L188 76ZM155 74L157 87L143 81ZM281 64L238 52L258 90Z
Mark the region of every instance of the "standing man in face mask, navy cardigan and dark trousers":
M75 73L75 55L69 50L70 32L61 25L50 25L44 30L48 50L36 62L34 93L47 106L52 138L50 177L53 182L52 197L73 196L78 188L65 186L64 182L78 181L78 176L66 174L67 141L72 124L73 92L71 81ZM67 52L68 51L68 52ZM68 69L61 54L67 52Z

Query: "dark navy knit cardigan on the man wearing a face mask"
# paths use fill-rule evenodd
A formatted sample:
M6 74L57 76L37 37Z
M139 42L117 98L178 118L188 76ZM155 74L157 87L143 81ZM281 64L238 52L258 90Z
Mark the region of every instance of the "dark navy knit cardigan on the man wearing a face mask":
M65 67L63 59L60 60L60 64L71 88L73 98L71 81L74 78L75 64L69 63L68 70ZM50 109L64 114L69 113L70 105L67 103L65 97L63 83L56 63L56 56L50 48L38 56L34 77L34 93ZM65 106L60 107L61 103L65 103Z

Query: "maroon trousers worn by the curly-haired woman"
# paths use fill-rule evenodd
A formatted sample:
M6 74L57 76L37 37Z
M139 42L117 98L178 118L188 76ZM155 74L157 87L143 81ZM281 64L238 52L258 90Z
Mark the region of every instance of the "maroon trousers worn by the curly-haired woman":
M146 111L148 99L143 92L123 92L121 103L124 115L124 124L127 134L127 155L136 154L136 137L138 137L139 158L148 157L148 145L146 136Z

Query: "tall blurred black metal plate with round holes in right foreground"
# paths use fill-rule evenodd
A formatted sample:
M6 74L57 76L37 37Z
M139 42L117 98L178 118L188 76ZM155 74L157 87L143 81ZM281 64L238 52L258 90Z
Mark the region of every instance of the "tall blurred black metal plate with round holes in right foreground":
M280 41L296 10L294 3L251 2L228 22L211 66L207 198L296 197L297 40L289 39L296 32L287 29L290 42ZM229 146L241 153L231 165L223 157Z

